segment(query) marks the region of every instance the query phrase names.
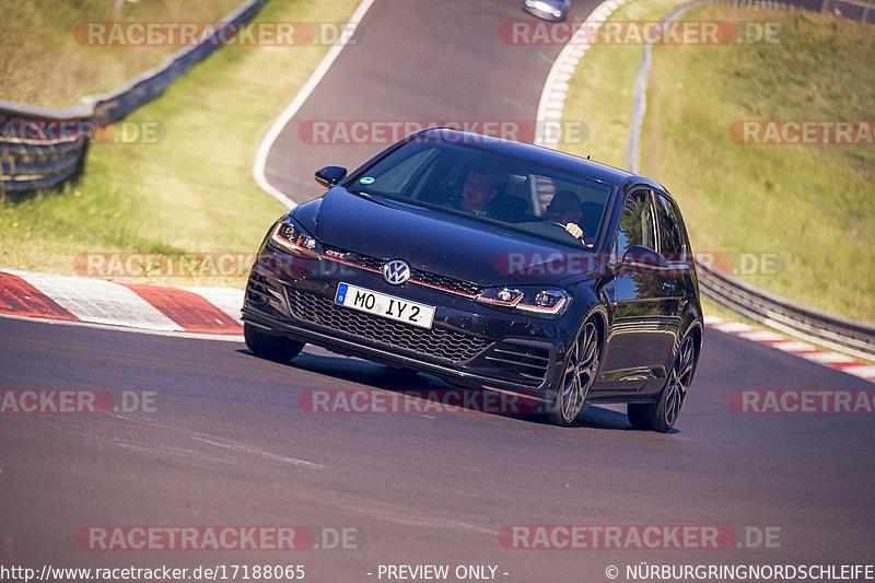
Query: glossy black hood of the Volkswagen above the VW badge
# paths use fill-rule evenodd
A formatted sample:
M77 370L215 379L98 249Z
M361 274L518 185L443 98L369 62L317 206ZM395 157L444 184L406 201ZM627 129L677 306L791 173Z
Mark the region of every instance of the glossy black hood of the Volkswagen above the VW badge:
M462 217L334 187L314 221L326 246L378 259L404 259L422 269L480 285L556 284L564 265L592 264L594 254ZM569 261L569 257L573 257ZM578 279L578 278L573 278Z

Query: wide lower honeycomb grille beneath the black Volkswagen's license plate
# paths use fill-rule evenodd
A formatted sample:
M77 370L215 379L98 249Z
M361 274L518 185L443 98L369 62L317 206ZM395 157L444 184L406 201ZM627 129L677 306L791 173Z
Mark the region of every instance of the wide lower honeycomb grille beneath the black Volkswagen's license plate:
M285 293L294 317L428 357L460 362L475 357L490 342L466 334L441 328L417 328L381 316L357 312L294 288L287 288Z

